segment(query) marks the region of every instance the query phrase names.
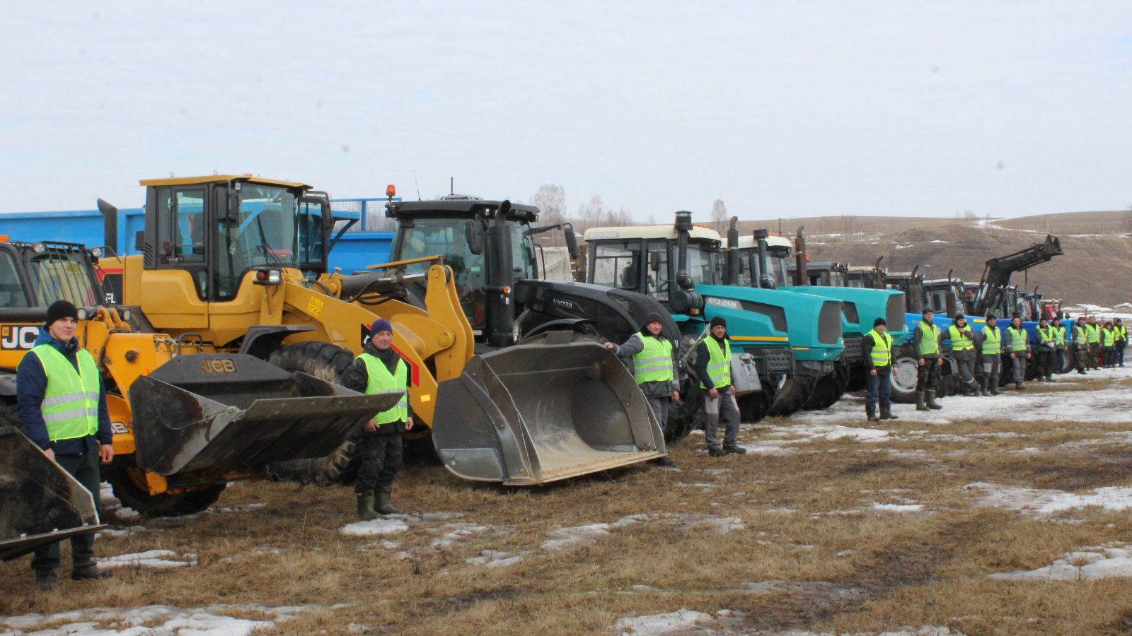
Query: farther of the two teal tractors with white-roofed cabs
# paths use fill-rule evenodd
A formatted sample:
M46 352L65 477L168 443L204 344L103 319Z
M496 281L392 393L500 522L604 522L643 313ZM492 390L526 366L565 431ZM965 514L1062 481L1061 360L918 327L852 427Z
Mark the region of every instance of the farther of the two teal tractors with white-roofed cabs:
M732 227L734 225L732 220ZM829 390L840 397L844 390L864 388L865 364L861 360L861 341L865 334L873 329L873 323L877 318L884 318L894 345L904 341L908 336L908 328L904 326L904 294L895 290L846 286L849 282L849 268L844 264L831 264L824 269L817 269L812 276L807 272L801 227L798 229L795 264L797 282L791 285L789 274L794 246L789 239L771 235L766 230L755 230L751 237L738 237L737 231L732 232L736 234L735 260L738 260L739 269L748 273L738 277L738 284L838 301L844 353L837 366L834 378L827 381ZM835 286L812 284L815 280ZM820 407L818 404L812 406Z

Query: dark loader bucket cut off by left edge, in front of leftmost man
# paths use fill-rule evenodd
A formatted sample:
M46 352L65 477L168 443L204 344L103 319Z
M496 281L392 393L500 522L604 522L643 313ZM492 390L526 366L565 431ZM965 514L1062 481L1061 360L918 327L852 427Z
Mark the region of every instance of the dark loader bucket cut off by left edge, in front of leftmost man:
M0 559L103 527L91 491L24 433L0 427Z

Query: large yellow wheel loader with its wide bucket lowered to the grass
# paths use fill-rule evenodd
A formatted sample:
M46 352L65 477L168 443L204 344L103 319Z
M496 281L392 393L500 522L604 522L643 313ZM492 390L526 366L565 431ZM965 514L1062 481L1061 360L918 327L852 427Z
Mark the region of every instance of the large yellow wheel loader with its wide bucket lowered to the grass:
M441 257L415 259L419 270L410 274L327 273L341 231L332 237L325 194L250 175L142 184L140 253L102 265L121 302L139 307L174 346L242 352L337 383L361 353L369 326L385 318L412 370L415 419L444 429L432 442L460 476L533 484L664 455L633 376L603 347L547 340L506 355L477 355ZM117 244L117 208L98 205L106 242ZM419 278L428 281L427 292L406 293ZM348 481L354 466L346 442L319 459L273 470L325 484Z

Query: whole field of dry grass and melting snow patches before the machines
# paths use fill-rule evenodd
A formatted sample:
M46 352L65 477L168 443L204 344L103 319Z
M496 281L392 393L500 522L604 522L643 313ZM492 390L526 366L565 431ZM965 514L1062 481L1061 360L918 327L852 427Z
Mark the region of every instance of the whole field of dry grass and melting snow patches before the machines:
M875 423L850 395L745 426L743 456L696 431L677 467L539 489L408 467L409 514L372 522L346 488L179 518L104 488L114 577L44 594L0 566L0 636L1121 633L1132 369L1060 379Z

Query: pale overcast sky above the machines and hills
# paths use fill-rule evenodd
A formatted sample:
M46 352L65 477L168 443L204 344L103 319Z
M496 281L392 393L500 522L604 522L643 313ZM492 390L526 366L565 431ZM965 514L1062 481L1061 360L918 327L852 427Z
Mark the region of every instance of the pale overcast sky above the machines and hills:
M643 221L1132 204L1132 3L0 2L0 212L256 173Z

